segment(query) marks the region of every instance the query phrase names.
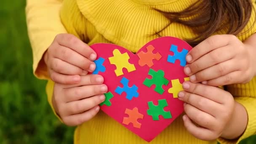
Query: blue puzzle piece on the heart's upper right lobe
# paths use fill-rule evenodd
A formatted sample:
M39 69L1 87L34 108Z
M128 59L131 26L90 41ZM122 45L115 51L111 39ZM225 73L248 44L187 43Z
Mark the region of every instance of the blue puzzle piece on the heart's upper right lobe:
M179 59L180 65L181 65L182 67L185 67L185 66L186 66L186 63L187 63L187 61L186 61L186 55L187 55L187 53L188 53L189 51L186 50L186 49L182 49L182 51L179 52L177 45L171 45L170 51L172 51L174 54L173 54L173 56L168 55L167 61L170 62L170 63L175 64L175 61L176 61L177 59Z

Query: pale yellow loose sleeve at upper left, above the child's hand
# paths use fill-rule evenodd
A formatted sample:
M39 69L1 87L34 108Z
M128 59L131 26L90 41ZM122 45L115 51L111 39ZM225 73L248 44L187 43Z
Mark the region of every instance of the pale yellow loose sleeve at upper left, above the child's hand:
M29 40L33 51L33 72L46 79L47 68L43 54L59 33L67 33L61 24L59 10L62 0L27 0L26 16Z

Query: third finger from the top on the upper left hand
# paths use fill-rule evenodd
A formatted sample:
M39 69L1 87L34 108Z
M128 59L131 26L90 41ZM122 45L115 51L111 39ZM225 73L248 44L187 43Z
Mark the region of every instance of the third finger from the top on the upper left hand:
M53 58L50 65L55 72L59 72L64 75L82 75L85 73L83 69L58 58Z

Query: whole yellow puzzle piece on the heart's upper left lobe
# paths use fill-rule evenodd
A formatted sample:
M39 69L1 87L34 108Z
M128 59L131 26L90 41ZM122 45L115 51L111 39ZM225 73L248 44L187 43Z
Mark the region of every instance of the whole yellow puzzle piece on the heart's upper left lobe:
M132 72L136 70L134 64L129 63L129 55L128 53L120 53L118 49L113 51L112 57L109 57L110 64L115 64L117 69L115 69L115 74L117 76L123 75L123 68L126 68L128 72Z

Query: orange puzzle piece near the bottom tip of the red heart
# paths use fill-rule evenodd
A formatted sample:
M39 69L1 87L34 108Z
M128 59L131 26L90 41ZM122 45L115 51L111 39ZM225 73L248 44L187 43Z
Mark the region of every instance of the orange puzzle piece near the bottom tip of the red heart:
M133 127L141 128L141 123L139 123L137 120L143 119L144 115L139 113L137 107L134 107L133 110L125 109L125 114L129 115L129 117L123 118L123 124L128 125L129 123L132 123Z

